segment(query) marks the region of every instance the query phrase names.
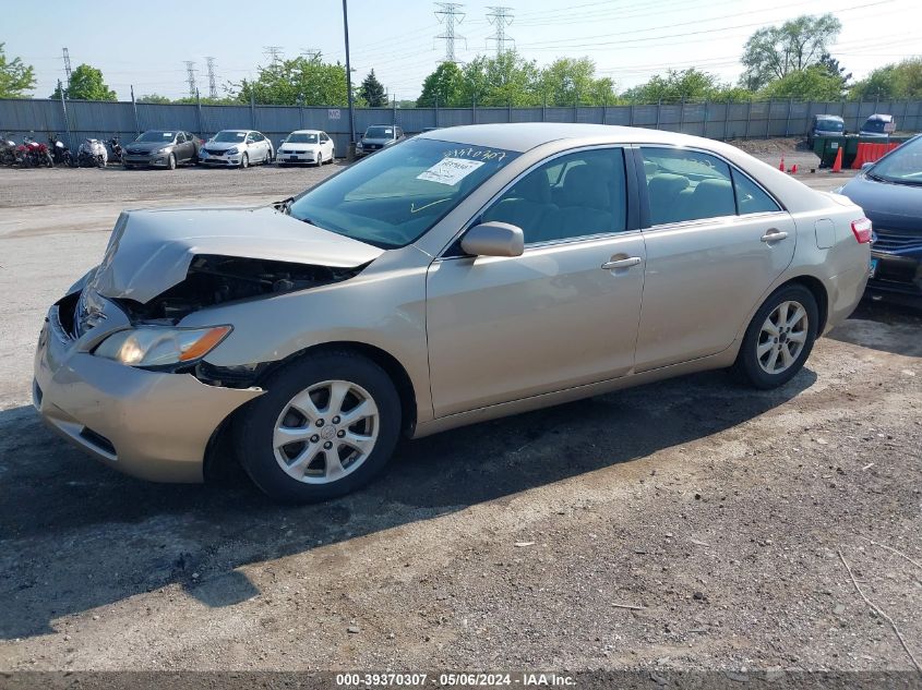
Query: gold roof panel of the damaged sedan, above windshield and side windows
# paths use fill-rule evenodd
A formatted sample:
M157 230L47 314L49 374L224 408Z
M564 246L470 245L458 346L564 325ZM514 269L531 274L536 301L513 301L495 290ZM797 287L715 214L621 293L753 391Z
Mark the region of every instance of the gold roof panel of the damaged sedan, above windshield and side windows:
M451 137L444 140L443 137ZM417 138L433 138L468 144L471 146L489 146L507 150L526 152L542 144L566 141L567 143L598 143L609 140L619 144L671 144L674 146L701 146L704 142L709 148L715 148L717 142L703 140L699 136L667 132L663 130L647 130L644 128L621 126L614 124L584 124L566 122L518 122L501 124L467 124L453 126L435 132L422 132Z

